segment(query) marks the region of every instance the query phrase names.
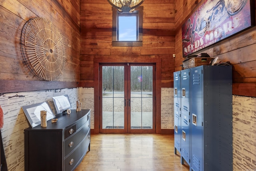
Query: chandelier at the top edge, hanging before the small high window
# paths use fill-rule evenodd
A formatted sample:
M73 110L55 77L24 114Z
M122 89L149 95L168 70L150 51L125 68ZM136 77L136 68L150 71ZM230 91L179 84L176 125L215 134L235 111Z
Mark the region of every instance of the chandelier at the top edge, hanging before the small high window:
M108 0L108 2L118 9L119 12L134 12L135 8L140 6L144 0Z

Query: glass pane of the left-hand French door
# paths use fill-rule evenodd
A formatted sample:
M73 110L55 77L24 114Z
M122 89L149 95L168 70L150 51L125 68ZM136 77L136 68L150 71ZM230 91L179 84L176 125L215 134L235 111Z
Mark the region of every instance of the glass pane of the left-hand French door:
M124 66L102 66L102 129L124 129Z

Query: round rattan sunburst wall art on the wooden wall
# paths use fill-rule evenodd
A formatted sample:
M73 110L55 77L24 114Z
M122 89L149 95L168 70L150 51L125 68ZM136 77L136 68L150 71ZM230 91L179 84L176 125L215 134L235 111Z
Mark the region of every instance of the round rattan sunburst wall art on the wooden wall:
M58 28L46 18L32 18L21 34L22 54L32 72L42 80L58 80L66 67L66 48Z

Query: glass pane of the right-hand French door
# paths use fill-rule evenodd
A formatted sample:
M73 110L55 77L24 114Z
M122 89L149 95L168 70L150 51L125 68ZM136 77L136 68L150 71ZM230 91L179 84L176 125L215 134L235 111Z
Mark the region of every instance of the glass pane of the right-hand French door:
M153 127L152 66L131 66L131 129Z

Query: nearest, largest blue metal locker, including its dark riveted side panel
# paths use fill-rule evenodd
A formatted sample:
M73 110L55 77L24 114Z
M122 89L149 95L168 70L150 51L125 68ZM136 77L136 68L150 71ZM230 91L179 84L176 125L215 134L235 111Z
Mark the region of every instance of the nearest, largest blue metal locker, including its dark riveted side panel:
M191 171L232 171L232 67L190 69Z

